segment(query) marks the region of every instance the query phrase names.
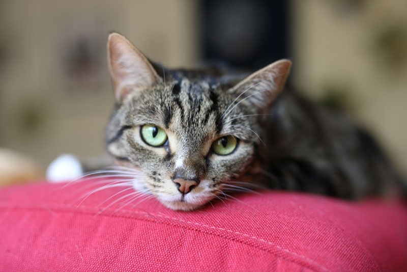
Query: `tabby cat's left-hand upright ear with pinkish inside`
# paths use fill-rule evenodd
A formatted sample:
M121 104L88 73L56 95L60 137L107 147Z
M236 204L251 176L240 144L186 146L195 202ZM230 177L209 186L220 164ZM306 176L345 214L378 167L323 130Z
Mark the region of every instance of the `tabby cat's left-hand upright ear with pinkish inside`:
M107 61L114 96L121 103L131 92L156 85L161 78L147 58L118 33L107 41Z

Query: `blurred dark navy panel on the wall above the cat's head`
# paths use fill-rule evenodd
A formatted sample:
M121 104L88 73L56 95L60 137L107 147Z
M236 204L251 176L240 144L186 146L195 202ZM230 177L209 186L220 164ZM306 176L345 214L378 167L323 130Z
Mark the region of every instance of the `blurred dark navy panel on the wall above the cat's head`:
M204 60L258 69L288 57L288 1L201 1Z

